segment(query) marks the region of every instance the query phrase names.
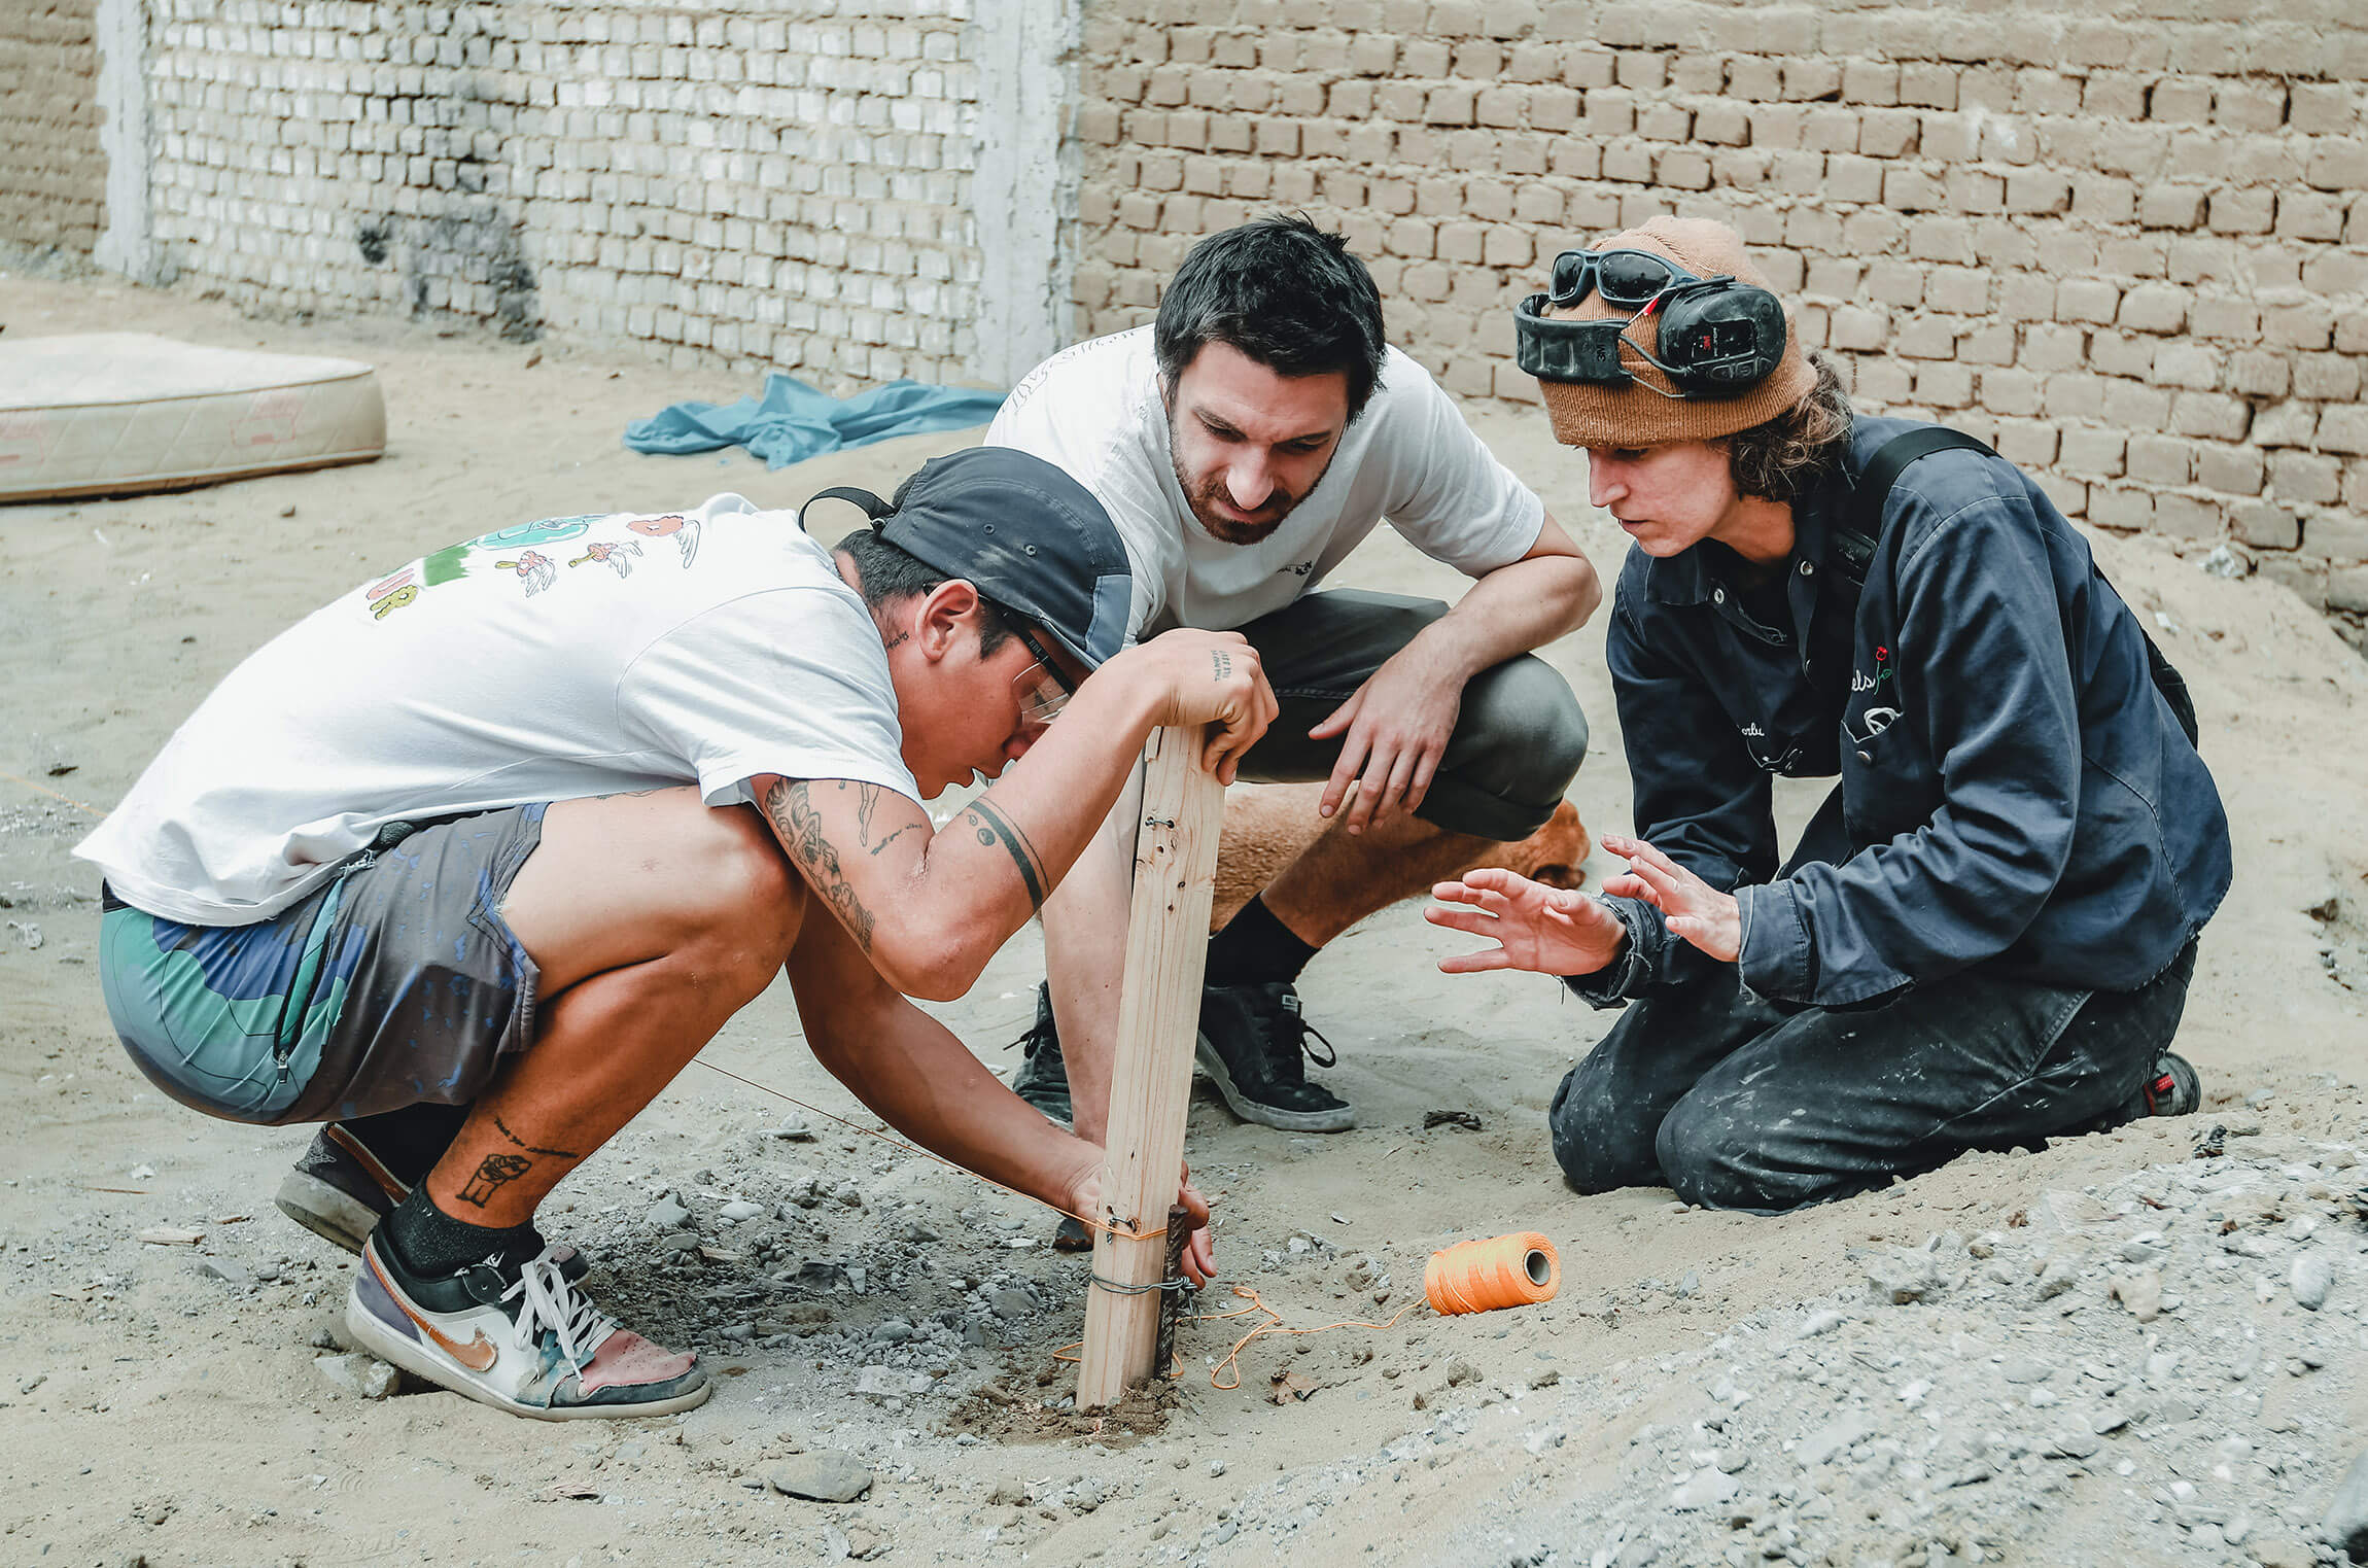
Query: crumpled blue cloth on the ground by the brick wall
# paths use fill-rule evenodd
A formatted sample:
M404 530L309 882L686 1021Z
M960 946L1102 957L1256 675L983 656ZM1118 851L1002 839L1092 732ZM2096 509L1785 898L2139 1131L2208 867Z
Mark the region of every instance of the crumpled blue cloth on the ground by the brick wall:
M852 398L831 398L798 377L772 372L765 391L739 403L675 403L625 426L635 452L713 452L744 445L779 469L805 457L869 445L890 436L959 431L985 424L1004 396L971 386L890 381Z

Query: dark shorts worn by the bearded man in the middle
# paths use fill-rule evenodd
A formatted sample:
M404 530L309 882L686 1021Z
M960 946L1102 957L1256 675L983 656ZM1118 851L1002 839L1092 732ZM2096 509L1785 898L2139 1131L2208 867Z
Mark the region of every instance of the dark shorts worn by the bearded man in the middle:
M1307 732L1444 613L1437 599L1328 587L1234 628L1257 649L1283 708L1243 753L1241 777L1328 779L1340 737L1312 741ZM1587 715L1570 682L1537 654L1516 654L1463 687L1440 772L1414 815L1449 834L1527 838L1553 817L1584 758Z

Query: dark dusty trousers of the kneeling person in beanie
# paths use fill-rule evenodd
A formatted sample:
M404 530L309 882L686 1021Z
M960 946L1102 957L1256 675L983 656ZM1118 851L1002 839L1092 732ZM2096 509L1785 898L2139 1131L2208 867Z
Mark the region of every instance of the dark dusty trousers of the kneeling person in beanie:
M2195 943L2124 992L1977 964L1833 1011L1752 997L1726 964L1629 1002L1553 1094L1553 1156L1579 1191L1783 1213L1968 1149L2115 1127L2143 1104L2193 973Z

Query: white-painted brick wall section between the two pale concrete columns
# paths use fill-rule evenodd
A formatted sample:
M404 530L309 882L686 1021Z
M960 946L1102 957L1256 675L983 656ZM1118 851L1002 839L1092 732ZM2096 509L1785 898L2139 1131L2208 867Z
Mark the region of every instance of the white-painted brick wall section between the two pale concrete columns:
M964 0L154 0L154 232L391 308L826 384L959 381Z

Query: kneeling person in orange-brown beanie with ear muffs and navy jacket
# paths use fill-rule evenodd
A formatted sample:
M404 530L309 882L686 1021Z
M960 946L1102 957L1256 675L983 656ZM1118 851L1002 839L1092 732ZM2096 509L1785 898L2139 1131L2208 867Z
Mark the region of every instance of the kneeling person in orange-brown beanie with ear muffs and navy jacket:
M1601 895L1501 869L1433 924L1627 1014L1549 1130L1579 1191L1778 1213L2198 1104L2171 1054L2228 820L2176 670L2046 493L1849 407L1743 239L1655 218L1518 315L1629 535L1634 779ZM1771 777L1840 784L1781 855Z

